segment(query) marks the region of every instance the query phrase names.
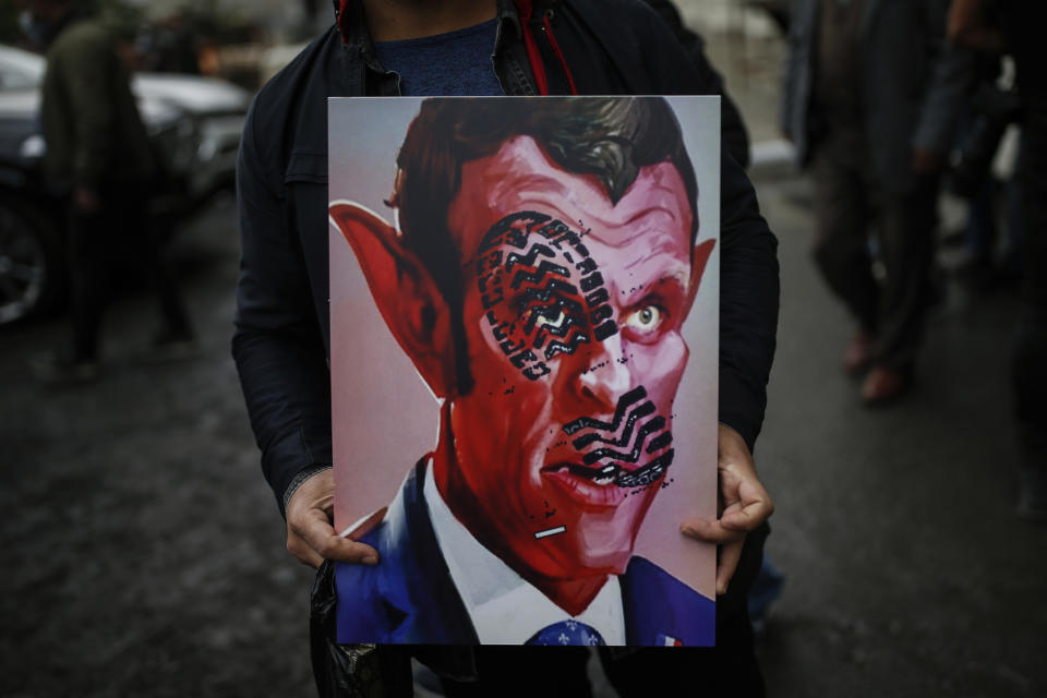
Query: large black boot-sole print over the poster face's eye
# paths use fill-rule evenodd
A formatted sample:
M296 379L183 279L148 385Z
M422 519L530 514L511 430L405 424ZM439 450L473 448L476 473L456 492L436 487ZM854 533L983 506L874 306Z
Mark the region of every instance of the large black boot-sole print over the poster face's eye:
M618 332L583 234L524 210L498 220L480 242L477 288L488 325L503 353L531 381L547 375L547 362L559 354Z

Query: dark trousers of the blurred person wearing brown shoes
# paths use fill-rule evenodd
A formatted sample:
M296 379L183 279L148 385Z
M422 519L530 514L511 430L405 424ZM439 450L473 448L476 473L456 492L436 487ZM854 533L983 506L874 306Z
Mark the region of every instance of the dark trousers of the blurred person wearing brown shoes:
M816 147L814 255L829 287L876 338L874 363L907 370L931 297L938 182L925 178L894 192L878 181L866 153L856 129ZM883 265L882 282L874 275L875 261Z

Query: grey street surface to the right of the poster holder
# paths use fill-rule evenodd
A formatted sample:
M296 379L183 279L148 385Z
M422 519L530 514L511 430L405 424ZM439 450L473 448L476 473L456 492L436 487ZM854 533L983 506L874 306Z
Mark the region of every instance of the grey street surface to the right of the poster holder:
M757 446L785 570L761 657L778 696L1042 696L1047 529L1020 522L1012 293L955 285L914 392L870 410L809 260L803 182L759 185L780 239L779 350Z

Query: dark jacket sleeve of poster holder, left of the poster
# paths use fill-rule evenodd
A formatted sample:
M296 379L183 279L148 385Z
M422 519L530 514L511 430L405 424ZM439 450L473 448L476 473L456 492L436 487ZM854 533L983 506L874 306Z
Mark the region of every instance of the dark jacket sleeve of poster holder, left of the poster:
M285 493L302 473L326 465L330 377L299 239L280 192L278 157L260 148L257 99L237 163L240 277L232 356L262 470L285 513ZM285 513L286 515L286 513Z

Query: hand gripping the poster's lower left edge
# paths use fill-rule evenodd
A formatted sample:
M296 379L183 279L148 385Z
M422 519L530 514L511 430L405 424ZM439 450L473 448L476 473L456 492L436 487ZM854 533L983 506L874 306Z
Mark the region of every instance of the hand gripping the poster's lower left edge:
M335 532L335 477L321 470L299 485L287 503L287 552L298 562L320 567L324 559L374 565L378 552Z

